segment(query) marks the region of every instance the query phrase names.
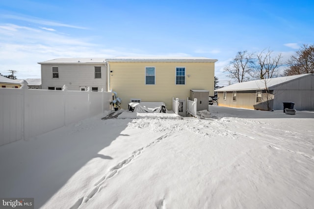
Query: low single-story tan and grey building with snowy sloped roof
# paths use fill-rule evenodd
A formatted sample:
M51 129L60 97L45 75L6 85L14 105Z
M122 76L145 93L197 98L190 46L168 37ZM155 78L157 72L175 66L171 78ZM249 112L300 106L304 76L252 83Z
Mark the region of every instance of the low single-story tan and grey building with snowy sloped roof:
M215 91L221 106L279 110L284 102L293 102L296 110L314 110L314 74L235 83Z

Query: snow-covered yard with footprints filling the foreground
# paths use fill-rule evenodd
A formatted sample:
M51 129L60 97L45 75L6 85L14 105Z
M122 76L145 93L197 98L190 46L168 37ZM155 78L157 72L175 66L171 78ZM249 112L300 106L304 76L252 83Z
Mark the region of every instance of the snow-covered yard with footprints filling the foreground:
M0 197L45 209L313 208L314 112L209 110L101 115L1 146Z

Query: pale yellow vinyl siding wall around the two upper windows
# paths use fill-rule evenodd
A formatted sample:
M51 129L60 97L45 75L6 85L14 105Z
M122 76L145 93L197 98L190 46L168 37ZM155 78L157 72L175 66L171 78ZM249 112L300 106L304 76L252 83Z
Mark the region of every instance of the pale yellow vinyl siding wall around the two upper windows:
M191 89L214 90L214 63L121 63L108 62L110 89L122 99L122 108L128 108L131 98L142 102L164 102L172 109L172 97L186 99ZM145 67L155 67L155 85L145 85ZM185 67L185 85L176 85L176 67ZM187 76L189 75L189 77Z

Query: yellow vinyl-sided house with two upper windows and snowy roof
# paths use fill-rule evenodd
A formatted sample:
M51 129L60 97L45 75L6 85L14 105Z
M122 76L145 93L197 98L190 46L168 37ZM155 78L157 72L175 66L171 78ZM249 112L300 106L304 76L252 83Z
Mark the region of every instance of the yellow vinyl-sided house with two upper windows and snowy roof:
M186 98L190 97L191 90L207 90L207 95L213 96L216 61L206 57L106 59L108 89L117 92L124 109L131 102L164 102L172 109L172 98L179 98L179 111L185 115ZM208 96L205 103L208 109Z

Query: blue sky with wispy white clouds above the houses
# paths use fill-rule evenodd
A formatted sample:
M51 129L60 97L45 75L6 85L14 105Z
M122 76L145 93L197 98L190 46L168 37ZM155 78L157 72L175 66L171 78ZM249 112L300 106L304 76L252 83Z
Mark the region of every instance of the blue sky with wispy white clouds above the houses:
M0 73L40 78L37 62L128 55L218 59L226 85L236 52L282 52L314 44L312 0L0 1Z

